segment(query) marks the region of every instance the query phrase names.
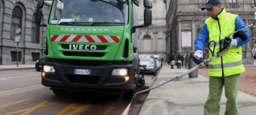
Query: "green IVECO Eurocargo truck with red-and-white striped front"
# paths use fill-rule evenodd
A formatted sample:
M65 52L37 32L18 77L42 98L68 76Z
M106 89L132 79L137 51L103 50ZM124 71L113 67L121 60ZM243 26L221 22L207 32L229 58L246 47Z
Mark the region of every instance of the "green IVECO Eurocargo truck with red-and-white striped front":
M69 90L121 92L132 98L140 83L138 29L152 22L152 3L138 0L52 0L42 24L38 2L35 23L46 27L41 83L55 95Z

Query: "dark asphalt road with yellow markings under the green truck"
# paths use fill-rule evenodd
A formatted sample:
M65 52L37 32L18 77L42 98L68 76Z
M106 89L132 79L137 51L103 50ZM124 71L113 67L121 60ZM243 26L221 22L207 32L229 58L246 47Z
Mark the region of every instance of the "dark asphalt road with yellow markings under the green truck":
M149 86L153 75L145 75ZM137 95L129 114L138 115L148 94ZM0 71L0 115L121 115L130 101L119 93L69 92L56 96L35 69Z

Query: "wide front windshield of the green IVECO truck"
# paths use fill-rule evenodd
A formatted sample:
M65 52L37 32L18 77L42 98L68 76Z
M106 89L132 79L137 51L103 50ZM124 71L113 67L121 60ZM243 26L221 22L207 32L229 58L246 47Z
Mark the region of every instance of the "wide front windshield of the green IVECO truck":
M128 3L121 0L53 0L49 24L121 26L128 23Z

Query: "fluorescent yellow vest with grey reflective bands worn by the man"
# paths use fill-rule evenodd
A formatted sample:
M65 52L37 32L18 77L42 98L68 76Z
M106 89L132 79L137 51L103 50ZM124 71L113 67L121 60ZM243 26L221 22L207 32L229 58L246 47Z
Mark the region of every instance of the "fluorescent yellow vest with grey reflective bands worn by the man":
M219 51L219 41L227 37L231 32L234 32L235 20L238 15L226 12L225 9L217 16L218 18L213 19L212 17L205 20L207 29L209 32L209 41L215 41L214 53ZM233 35L230 36L233 38ZM209 49L213 50L213 45L210 45ZM209 57L212 54L209 52ZM227 52L224 53L220 58L217 58L208 64L209 76L224 77L230 75L236 75L245 71L244 65L242 64L242 50L241 46L229 47Z

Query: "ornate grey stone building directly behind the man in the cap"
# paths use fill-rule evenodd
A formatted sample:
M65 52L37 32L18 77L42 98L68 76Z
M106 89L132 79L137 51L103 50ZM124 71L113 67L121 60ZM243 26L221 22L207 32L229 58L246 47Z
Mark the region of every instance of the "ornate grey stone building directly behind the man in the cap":
M253 0L220 0L221 6L227 12L238 14L245 25L250 25L254 20ZM209 17L207 11L201 11L206 0L171 0L166 15L167 33L166 47L167 54L172 52L194 51L194 41L201 30L204 20ZM251 50L256 39L256 26L249 28L251 40L242 46L243 63L252 63L253 55ZM205 52L208 54L208 45L205 45Z

